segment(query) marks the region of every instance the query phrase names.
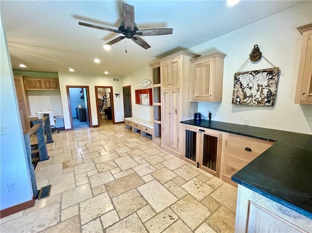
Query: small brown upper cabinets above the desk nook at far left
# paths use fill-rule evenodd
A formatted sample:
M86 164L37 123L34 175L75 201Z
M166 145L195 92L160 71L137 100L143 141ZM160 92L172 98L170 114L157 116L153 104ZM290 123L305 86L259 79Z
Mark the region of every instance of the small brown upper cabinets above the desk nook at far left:
M59 90L57 78L24 78L25 90Z

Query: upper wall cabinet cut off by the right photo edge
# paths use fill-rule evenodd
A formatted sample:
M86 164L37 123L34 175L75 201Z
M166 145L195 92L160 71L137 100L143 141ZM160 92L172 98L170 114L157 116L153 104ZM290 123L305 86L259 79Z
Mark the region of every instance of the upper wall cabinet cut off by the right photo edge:
M295 104L312 104L312 24L297 28L302 35Z

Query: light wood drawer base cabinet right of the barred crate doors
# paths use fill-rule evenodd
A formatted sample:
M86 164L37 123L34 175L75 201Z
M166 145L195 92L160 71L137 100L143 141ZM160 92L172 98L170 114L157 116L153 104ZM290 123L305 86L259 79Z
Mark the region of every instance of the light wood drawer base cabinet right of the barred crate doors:
M237 187L237 183L231 180L232 176L273 144L270 141L229 134L224 148L221 179Z

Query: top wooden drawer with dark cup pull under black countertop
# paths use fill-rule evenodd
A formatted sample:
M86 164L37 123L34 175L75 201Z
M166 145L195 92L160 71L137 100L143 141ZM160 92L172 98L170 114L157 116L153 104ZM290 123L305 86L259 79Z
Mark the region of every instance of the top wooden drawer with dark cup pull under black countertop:
M255 141L252 138L229 135L227 143L228 155L242 161L250 162L272 145L273 143L267 141L263 141L262 143Z

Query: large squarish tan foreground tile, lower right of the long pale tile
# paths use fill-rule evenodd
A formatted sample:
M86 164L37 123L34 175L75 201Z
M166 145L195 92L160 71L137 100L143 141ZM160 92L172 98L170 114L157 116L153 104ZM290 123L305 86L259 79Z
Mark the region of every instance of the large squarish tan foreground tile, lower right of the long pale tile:
M170 207L193 231L211 212L194 197L187 195Z

